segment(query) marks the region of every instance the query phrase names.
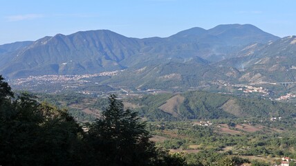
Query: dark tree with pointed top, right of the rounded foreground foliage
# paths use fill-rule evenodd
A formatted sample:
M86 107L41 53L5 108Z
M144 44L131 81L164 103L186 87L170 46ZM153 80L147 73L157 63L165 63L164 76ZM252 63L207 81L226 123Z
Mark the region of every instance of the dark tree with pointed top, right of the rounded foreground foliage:
M109 96L109 107L89 127L89 142L98 163L102 165L151 165L156 156L154 142L149 140L145 122L138 113L124 110L115 95Z

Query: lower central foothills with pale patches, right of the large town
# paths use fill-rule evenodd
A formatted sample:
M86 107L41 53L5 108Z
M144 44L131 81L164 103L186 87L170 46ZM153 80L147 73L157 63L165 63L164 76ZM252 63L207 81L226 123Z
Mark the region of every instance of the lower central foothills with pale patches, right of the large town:
M192 59L188 62L167 62L129 68L114 75L102 84L125 86L129 89L188 89L209 86L210 82L228 80L235 82L239 71L232 67L211 66L207 62Z

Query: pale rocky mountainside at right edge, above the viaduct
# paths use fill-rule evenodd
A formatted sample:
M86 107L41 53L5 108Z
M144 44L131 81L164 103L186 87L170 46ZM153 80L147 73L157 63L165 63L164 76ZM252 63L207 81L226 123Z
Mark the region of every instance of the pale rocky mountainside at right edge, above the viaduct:
M268 44L253 44L239 51L240 57L216 65L233 66L242 75L239 82L296 82L296 37L284 37Z

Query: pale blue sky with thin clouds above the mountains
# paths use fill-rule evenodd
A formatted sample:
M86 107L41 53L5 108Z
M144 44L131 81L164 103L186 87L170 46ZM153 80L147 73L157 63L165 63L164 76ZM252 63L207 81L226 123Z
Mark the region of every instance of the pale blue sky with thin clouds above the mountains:
M296 35L295 0L0 0L0 44L108 29L127 37L169 37L193 27L252 24Z

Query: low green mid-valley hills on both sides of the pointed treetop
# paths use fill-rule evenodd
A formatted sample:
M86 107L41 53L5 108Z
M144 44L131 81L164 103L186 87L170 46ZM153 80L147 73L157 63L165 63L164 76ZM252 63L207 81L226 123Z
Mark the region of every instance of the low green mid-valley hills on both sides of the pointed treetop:
M40 95L60 107L68 106L75 118L95 116L107 107L105 98L87 95ZM72 96L72 97L71 97ZM186 93L161 93L156 95L121 96L124 106L138 111L147 120L206 120L272 117L295 118L294 104L264 99L243 98L220 93L189 91ZM63 104L64 103L64 104ZM65 104L66 103L66 104ZM73 109L75 108L75 109ZM90 109L91 112L85 111ZM80 112L80 113L79 113ZM80 117L83 116L83 117ZM86 120L86 119L84 119Z

